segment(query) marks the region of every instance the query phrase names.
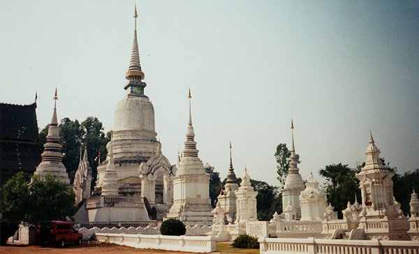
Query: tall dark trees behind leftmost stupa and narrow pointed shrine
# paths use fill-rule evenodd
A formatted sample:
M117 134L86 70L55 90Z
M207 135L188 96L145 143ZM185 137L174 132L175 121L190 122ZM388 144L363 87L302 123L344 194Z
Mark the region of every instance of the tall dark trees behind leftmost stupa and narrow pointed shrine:
M41 151L46 142L48 126L45 126L39 133ZM110 135L103 132L103 124L96 117L87 117L82 123L65 117L59 124L59 135L61 138L62 152L64 154L63 164L66 166L68 177L71 182L74 180L75 171L80 161L80 146L87 143L87 155L92 170L92 185L96 181L98 152L101 151L101 160L104 160L108 151L106 144L110 141ZM109 134L109 133L108 133Z

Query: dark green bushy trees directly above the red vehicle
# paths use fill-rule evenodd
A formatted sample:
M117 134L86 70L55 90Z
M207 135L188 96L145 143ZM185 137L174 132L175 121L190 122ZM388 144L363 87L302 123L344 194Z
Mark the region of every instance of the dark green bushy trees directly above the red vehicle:
M73 188L51 174L34 175L29 183L23 172L18 172L1 193L1 213L8 221L65 220L77 209Z

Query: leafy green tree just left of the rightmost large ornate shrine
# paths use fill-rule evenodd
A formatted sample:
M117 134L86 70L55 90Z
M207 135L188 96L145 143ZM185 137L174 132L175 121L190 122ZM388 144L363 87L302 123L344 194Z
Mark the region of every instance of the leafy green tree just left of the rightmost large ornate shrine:
M355 195L359 202L361 200L359 181L355 177L358 172L360 172L360 167L353 169L341 163L328 165L324 170L320 170L321 176L328 181L325 184L328 202L335 206L338 218L342 218L341 211L346 209L348 201L355 202Z

